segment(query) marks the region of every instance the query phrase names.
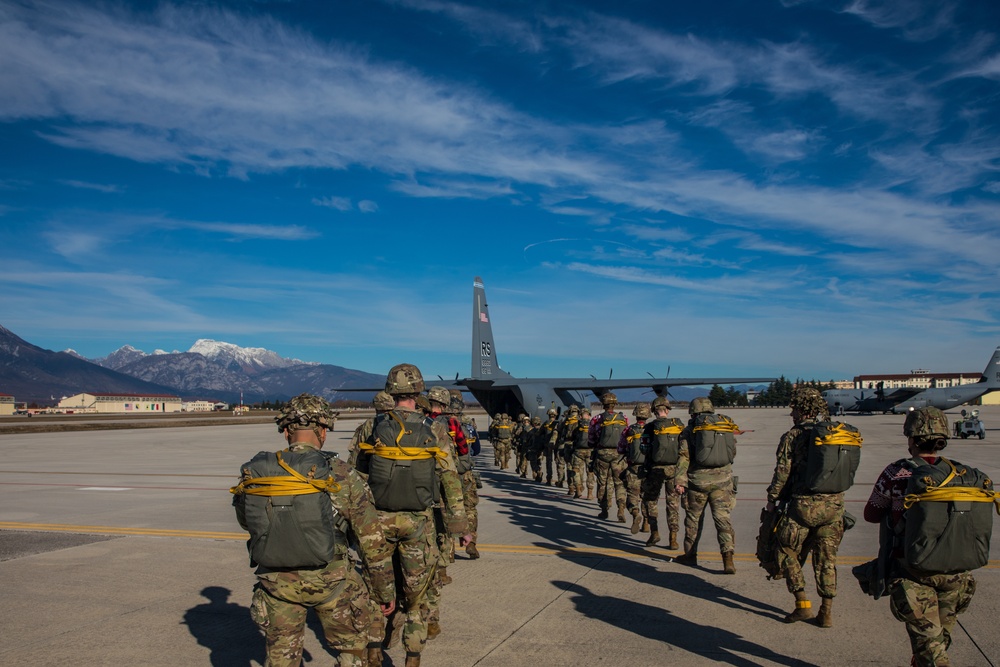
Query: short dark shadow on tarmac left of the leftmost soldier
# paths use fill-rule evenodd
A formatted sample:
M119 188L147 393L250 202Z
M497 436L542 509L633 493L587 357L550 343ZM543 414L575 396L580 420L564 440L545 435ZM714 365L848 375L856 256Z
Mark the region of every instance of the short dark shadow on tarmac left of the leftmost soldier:
M264 639L250 610L229 602L232 591L222 586L206 586L201 594L209 601L184 612L182 622L198 644L209 650L212 667L263 665Z

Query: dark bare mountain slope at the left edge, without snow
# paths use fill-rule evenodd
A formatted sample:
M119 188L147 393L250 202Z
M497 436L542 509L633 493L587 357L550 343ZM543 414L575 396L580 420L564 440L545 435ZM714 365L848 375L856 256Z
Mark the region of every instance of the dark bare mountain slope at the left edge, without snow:
M146 382L75 356L32 345L0 326L0 392L17 401L51 405L82 392L172 394L177 390ZM53 400L54 398L54 400Z

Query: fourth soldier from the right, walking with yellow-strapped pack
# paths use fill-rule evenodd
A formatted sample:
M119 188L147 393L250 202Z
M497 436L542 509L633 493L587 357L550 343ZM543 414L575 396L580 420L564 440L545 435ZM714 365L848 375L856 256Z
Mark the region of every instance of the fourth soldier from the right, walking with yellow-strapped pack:
M670 531L670 549L677 549L677 530L680 528L681 496L686 489L678 480L687 478L687 443L681 441L684 426L679 419L669 417L670 401L664 396L653 400L656 419L647 422L642 432L646 448L646 478L642 483L642 510L649 521L651 547L660 541L659 504L660 489L666 488L667 528Z

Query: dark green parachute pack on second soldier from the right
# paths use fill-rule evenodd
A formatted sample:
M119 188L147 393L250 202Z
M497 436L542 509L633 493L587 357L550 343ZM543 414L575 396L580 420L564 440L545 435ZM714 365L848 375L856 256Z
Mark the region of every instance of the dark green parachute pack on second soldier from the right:
M809 433L803 486L809 493L843 493L854 485L864 439L844 422L822 421Z

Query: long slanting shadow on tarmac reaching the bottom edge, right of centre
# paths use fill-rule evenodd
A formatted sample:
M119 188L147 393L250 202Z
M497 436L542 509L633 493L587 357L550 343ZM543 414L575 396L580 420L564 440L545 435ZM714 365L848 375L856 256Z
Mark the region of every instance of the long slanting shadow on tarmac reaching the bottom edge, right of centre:
M714 662L735 667L755 667L757 662L739 655L744 653L779 665L817 667L813 663L775 653L734 632L716 626L693 623L666 609L633 600L597 595L580 584L566 581L552 583L569 593L576 610L588 618L676 646Z

